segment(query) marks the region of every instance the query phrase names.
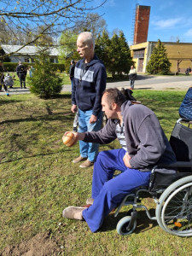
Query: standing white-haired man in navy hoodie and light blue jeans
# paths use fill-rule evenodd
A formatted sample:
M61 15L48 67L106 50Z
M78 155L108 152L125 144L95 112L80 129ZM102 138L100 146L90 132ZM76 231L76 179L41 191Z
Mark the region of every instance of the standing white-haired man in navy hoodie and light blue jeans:
M79 132L99 131L102 126L102 92L106 89L106 69L95 54L91 32L82 32L77 39L77 51L83 59L74 70L72 112L79 108ZM94 165L98 143L79 142L80 155L73 163L84 161L80 167Z

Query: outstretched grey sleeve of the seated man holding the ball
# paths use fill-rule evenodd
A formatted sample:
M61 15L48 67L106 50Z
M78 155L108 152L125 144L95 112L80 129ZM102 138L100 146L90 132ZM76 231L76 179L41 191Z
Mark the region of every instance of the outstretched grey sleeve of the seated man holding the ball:
M100 131L86 131L84 132L84 142L85 143L99 143L108 144L113 142L117 137L115 133L116 125L112 120L108 120L108 123Z

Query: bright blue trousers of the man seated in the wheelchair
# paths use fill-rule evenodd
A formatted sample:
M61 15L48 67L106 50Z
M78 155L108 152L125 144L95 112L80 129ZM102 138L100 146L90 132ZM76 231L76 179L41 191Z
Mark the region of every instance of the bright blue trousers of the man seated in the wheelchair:
M94 202L82 212L92 232L102 226L104 217L119 205L125 195L149 183L150 172L127 168L123 161L124 155L123 148L102 151L97 155L92 181ZM115 170L121 173L113 177Z

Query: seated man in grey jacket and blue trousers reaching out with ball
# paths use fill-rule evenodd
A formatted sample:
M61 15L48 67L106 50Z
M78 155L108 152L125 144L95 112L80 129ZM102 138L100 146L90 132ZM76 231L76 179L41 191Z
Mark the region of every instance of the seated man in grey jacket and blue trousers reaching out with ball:
M121 148L97 155L92 195L86 201L90 207L67 207L62 213L64 218L85 220L92 232L99 230L104 217L125 195L148 185L153 166L176 162L172 147L152 110L126 101L115 88L103 93L102 111L107 115L107 125L100 131L74 133L76 140L107 144L118 138ZM116 170L121 173L113 177Z

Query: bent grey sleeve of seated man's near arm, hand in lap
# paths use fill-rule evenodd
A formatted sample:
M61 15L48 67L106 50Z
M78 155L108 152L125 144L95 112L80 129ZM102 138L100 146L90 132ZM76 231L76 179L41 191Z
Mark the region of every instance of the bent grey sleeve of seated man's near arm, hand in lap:
M154 166L166 150L163 131L154 114L143 119L142 124L138 127L137 137L140 144L137 148L137 154L131 155L132 168L140 169Z

